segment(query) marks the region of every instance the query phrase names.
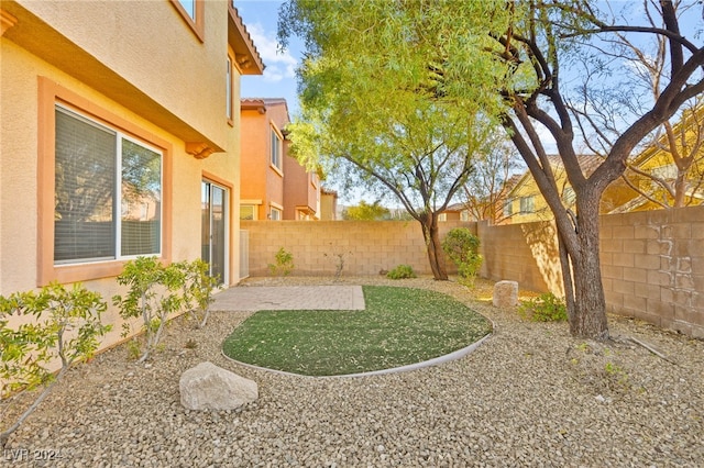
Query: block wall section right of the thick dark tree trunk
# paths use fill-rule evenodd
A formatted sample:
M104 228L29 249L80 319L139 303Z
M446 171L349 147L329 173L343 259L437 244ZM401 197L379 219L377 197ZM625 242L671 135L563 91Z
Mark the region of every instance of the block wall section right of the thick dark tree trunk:
M704 207L601 223L608 311L704 338Z

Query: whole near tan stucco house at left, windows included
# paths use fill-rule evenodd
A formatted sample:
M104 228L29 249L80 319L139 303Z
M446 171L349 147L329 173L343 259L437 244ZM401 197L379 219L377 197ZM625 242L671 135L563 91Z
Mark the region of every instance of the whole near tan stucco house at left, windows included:
M263 64L231 1L3 0L0 19L0 293L110 298L138 255L237 283L240 76Z

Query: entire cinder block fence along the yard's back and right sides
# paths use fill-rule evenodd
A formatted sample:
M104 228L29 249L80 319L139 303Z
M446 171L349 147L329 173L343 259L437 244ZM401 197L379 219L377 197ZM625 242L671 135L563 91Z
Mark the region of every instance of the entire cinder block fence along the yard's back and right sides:
M440 236L468 227L482 241L481 276L562 294L556 229L550 222L490 226L443 222ZM704 207L601 218L601 258L609 312L704 337ZM284 247L294 275L378 275L397 265L430 274L416 221L242 221L250 236L250 275L265 276ZM448 261L448 270L454 268Z

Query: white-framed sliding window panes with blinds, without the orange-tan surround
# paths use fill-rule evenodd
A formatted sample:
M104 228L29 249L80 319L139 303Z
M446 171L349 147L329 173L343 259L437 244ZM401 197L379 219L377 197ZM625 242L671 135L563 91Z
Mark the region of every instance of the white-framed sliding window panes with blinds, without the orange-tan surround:
M161 255L161 151L55 107L54 264Z

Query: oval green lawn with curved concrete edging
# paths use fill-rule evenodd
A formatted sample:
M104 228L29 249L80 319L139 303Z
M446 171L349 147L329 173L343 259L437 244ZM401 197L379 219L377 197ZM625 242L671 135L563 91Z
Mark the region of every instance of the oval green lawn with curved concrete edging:
M433 291L365 286L364 311L260 311L223 343L235 360L306 376L419 363L491 332L466 305Z

